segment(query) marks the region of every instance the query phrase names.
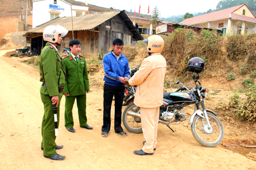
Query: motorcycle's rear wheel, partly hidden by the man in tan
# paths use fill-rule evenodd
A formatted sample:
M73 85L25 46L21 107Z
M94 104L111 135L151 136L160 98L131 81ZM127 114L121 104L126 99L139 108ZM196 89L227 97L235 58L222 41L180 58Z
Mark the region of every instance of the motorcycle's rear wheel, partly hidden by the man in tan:
M140 117L134 117L131 114L141 114L141 108L134 103L129 104L123 112L123 125L131 133L142 133L142 124Z

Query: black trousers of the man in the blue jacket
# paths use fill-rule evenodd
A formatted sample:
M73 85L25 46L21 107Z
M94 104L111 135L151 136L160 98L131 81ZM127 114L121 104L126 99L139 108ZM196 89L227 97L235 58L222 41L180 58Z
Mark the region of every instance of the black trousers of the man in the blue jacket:
M103 111L103 126L101 128L104 132L109 132L111 125L110 111L113 96L115 97L115 120L114 120L114 129L115 133L123 131L121 127L122 122L122 104L123 96L125 91L125 86L110 86L109 84L104 84L104 111Z

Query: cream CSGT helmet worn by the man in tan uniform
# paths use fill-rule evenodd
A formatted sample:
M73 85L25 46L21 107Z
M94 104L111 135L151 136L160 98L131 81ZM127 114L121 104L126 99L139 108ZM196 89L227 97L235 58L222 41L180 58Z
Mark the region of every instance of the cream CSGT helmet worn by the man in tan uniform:
M150 53L162 52L164 48L164 40L158 35L152 35L143 42L147 43L147 51Z

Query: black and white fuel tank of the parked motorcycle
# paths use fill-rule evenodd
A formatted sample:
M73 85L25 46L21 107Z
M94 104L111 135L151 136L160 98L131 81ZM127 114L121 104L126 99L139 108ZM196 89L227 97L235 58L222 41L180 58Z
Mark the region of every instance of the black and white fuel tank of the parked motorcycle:
M188 101L192 102L193 97L191 94L187 92L171 92L170 95L164 97L166 99L174 101L174 103L181 102L181 101Z

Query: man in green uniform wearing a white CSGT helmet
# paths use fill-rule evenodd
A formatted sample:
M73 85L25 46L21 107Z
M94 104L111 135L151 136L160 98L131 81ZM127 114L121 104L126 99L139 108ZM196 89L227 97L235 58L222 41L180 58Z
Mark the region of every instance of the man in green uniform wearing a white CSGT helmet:
M63 146L57 146L55 143L53 105L56 104L57 107L57 123L59 126L60 100L63 96L66 78L56 46L60 45L61 37L64 37L67 33L68 30L60 25L46 27L43 31L43 39L47 43L39 58L40 81L43 82L40 94L44 104L41 149L44 157L53 160L63 160L66 157L56 153L56 150Z

